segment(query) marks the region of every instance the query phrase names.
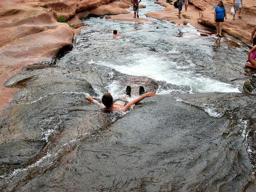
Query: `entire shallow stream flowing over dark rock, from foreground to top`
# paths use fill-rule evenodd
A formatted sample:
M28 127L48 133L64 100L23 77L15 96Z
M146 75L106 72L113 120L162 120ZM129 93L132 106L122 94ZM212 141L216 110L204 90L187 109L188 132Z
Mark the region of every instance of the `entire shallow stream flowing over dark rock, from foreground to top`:
M144 14L162 9L144 0ZM189 11L189 10L188 10ZM245 191L254 180L249 48L189 23L90 18L56 65L24 68L1 116L1 191ZM121 38L110 38L113 30ZM43 64L42 64L43 66ZM127 112L114 100L156 91ZM250 102L252 97L252 102Z

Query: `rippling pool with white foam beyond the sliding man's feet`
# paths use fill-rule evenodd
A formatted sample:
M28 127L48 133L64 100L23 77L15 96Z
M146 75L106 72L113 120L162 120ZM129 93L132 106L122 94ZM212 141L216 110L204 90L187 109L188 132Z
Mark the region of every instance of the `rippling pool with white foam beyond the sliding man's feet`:
M228 38L218 40L190 24L149 19L156 24L84 20L90 29L83 30L76 41L76 48L86 56L83 62L90 60L125 74L184 86L192 93L241 91L232 81L244 77L237 69L244 66L246 46ZM120 39L110 38L114 29L120 32ZM224 69L230 76L222 73Z

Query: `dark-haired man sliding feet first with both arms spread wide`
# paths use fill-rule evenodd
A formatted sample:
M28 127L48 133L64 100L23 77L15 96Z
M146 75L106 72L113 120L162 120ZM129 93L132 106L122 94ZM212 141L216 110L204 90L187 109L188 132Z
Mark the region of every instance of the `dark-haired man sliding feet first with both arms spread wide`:
M102 96L102 103L99 103L97 100L93 99L91 96L85 96L86 99L90 100L93 103L98 104L99 106L103 106L108 110L115 110L115 111L126 111L128 108L130 108L132 105L137 104L138 102L140 102L142 99L146 98L146 97L152 97L156 95L156 92L152 91L152 92L148 92L148 93L144 93L144 87L140 86L140 97L132 100L131 102L129 102L126 106L124 106L124 102L122 101L116 101L114 102L112 95L107 92ZM131 87L127 86L126 87L126 96L124 96L123 98L128 98L131 96Z

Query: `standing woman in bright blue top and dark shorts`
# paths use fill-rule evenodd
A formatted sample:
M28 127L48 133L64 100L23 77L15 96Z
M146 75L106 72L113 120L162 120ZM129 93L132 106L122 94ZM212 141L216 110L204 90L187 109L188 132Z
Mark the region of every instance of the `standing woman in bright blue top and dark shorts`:
M225 20L227 19L226 8L224 7L223 2L219 1L218 6L216 6L214 10L214 21L216 22L216 30L217 30L216 37L222 37L221 31L222 31L224 18Z

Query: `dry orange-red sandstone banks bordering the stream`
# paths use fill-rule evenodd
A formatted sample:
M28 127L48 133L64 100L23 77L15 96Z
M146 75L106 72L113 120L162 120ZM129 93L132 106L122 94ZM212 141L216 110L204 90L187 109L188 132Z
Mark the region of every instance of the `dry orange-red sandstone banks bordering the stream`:
M190 0L188 11L182 13L182 19L178 19L177 9L172 4L165 0L155 3L165 8L147 16L178 24L189 22L198 28L215 30L213 15L218 0ZM233 0L224 3L229 13ZM0 110L11 102L16 92L13 88L4 87L4 82L28 64L54 64L59 54L72 48L74 36L84 27L80 24L81 18L108 15L111 19L146 22L145 18L127 16L133 14L129 9L131 5L130 0L1 0ZM243 0L243 18L233 21L228 14L223 31L251 46L249 40L256 23L255 12L255 0ZM66 23L58 22L60 18Z

